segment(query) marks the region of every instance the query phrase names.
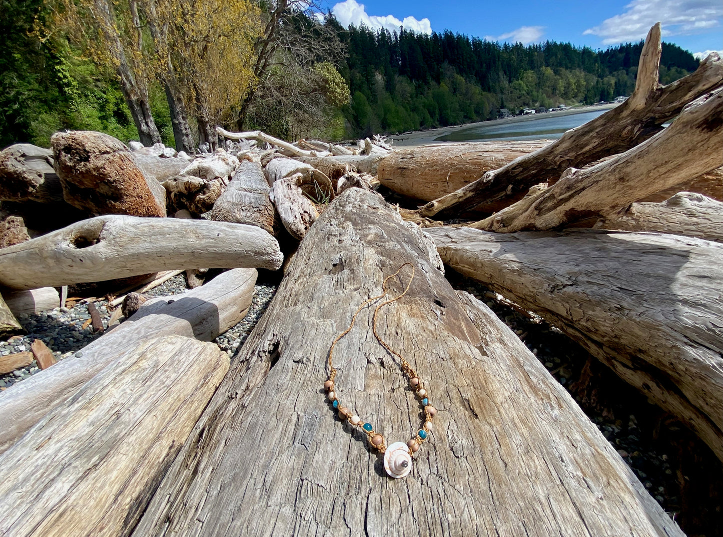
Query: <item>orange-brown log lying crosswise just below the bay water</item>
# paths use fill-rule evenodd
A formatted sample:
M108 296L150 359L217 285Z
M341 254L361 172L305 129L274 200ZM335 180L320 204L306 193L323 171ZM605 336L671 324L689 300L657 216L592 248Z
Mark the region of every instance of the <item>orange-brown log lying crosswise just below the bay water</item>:
M382 186L429 202L547 145L549 140L424 145L393 152L382 159L377 173Z

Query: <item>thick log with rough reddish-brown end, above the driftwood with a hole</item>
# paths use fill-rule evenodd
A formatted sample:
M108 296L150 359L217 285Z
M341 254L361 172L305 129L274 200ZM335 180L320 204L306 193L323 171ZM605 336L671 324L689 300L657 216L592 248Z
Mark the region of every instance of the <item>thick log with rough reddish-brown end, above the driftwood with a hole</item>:
M118 139L100 132L56 132L51 145L70 205L101 215L166 216L165 189L144 175Z

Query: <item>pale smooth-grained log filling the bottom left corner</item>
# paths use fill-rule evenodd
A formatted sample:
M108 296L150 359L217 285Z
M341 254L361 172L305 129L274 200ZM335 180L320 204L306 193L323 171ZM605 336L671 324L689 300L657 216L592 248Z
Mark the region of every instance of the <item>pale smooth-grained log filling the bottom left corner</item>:
M124 353L0 456L0 534L127 535L226 371L179 336Z

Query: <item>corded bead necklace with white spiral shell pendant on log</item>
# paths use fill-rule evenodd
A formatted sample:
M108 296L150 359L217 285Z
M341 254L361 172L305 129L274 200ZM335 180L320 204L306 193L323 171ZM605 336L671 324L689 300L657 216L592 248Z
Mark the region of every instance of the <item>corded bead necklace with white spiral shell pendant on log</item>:
M363 309L364 306L366 306L370 302L374 302L380 298L387 296L387 282L391 278L394 278L396 275L398 275L399 272L401 272L401 270L403 269L403 267L406 267L406 265L409 265L411 267L411 277L409 278L409 283L407 284L401 295L390 298L388 301L382 302L382 304L379 304L377 306L377 308L374 310L374 315L372 316L372 332L374 333L374 337L377 338L377 341L379 341L382 347L389 351L389 353L399 358L400 369L402 370L403 374L405 374L408 378L409 386L412 390L414 390L416 398L419 399L419 402L422 403L422 407L424 407L424 422L422 423L422 427L420 427L416 431L415 436L408 442L406 442L406 444L404 442L394 442L393 444L390 444L388 446L385 437L383 437L382 434L377 433L372 424L370 424L368 421L362 420L359 415L351 412L345 406L341 406L341 403L336 396L337 394L334 384L336 369L333 366L332 358L336 343L338 343L341 338L351 332L352 327L354 327L354 322L356 321L356 316L359 314L359 312L361 312L361 309ZM387 304L397 301L399 300L399 298L402 298L404 295L406 295L407 291L409 291L409 287L411 286L411 282L414 279L414 272L414 265L408 262L404 263L404 265L398 268L397 272L384 278L384 282L382 283L382 294L380 294L379 296L373 296L372 298L367 298L367 300L361 303L359 309L357 309L356 313L354 313L354 317L351 317L351 323L349 324L349 327L336 337L336 339L331 344L331 347L329 348L329 377L326 382L324 382L324 389L327 392L327 398L334 410L338 412L339 418L341 418L342 420L348 420L348 422L352 426L361 429L361 431L363 431L364 434L367 435L369 445L371 445L373 448L375 448L375 450L379 451L380 453L382 453L382 455L384 455L384 469L389 474L389 476L393 478L404 477L411 471L412 458L414 457L414 454L419 451L419 447L429 436L429 431L432 430L432 418L434 418L435 414L437 413L437 410L429 404L429 393L424 387L422 381L419 379L419 376L416 374L416 371L412 369L412 366L409 364L408 361L404 359L404 357L400 353L390 348L389 345L387 345L387 343L385 343L385 341L382 340L382 338L380 338L377 334L377 314L379 313L379 310Z

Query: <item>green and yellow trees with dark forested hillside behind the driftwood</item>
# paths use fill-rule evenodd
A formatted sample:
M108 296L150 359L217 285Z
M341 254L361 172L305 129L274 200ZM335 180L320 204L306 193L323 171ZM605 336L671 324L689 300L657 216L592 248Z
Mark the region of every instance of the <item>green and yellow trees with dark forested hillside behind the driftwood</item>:
M5 0L0 45L1 147L87 129L192 152L216 125L338 140L609 101L643 43L346 29L306 0ZM662 83L697 66L663 43Z

